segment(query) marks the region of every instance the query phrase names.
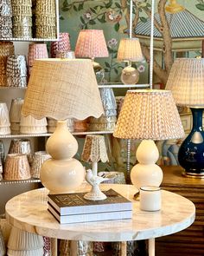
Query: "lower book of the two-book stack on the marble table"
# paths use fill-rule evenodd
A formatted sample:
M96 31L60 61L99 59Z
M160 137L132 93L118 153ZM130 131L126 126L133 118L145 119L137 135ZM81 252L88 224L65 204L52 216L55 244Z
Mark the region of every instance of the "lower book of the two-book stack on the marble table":
M53 207L48 205L48 211L54 215L54 218L61 224L71 224L80 222L91 222L101 220L124 220L131 219L132 211L117 211L117 212L102 212L102 213L82 213L82 214L69 214L60 215Z

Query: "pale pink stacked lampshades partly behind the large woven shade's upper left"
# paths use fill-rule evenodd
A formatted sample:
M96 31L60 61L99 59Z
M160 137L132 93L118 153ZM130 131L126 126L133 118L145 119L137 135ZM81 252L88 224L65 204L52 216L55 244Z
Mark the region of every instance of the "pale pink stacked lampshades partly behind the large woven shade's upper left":
M48 58L48 48L46 43L30 43L28 56L28 73L30 75L35 59Z

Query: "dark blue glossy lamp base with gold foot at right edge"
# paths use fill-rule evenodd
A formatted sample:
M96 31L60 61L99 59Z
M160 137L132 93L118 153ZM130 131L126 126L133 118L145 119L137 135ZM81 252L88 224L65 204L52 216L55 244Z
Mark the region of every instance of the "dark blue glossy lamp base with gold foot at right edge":
M203 108L190 108L193 114L193 128L182 142L178 161L185 169L185 176L204 178L204 131L202 128Z

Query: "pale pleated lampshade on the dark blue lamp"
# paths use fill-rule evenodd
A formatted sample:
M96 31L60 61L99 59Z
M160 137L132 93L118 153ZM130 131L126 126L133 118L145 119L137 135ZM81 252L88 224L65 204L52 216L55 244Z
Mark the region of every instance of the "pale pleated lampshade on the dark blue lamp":
M180 106L204 107L204 58L177 58L170 70L166 89Z

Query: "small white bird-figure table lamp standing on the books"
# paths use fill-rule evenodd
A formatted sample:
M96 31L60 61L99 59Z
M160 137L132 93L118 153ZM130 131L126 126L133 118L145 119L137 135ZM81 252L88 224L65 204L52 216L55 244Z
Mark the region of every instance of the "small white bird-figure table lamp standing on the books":
M89 184L92 185L92 189L85 195L87 200L105 200L106 195L100 191L99 183L105 181L105 179L98 177L98 161L108 161L108 156L105 147L105 137L103 135L86 135L83 152L81 154L81 160L86 162L92 162L92 181ZM87 178L88 174L86 175ZM108 179L106 179L108 180Z

